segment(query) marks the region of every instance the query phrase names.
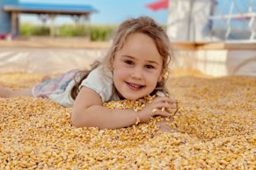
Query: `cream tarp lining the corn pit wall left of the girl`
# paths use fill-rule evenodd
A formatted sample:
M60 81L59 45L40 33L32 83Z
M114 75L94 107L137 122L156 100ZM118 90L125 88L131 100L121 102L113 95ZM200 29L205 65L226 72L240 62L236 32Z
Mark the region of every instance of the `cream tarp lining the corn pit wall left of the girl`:
M62 73L90 67L104 56L104 49L0 48L0 72Z

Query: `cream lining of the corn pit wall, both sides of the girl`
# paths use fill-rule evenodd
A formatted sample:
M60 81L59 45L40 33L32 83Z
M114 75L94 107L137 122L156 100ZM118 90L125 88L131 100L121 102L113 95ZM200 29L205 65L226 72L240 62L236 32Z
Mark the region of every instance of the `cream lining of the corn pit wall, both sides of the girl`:
M0 72L62 73L90 67L106 49L0 48ZM256 76L256 50L176 50L171 68L197 69L213 76Z

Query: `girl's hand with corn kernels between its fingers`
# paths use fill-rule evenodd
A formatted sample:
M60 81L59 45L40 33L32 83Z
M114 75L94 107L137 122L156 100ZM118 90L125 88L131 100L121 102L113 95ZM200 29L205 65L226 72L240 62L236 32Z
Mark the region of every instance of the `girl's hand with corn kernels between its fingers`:
M150 120L150 117L154 116L163 116L169 117L168 109L177 109L177 101L168 96L157 96L152 103L148 103L143 110L139 111L139 118L141 122L147 122Z

